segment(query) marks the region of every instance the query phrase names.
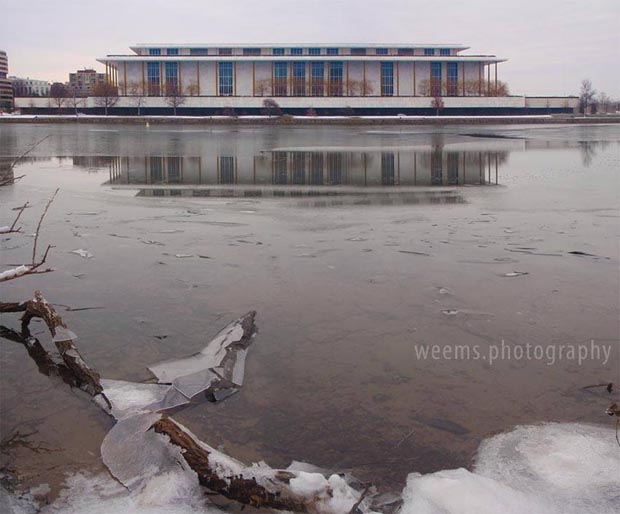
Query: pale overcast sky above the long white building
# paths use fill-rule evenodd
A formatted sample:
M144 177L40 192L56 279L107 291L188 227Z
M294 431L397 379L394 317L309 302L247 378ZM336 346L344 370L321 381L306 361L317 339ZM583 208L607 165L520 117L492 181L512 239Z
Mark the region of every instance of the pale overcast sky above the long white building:
M67 81L134 43L463 43L511 93L620 98L620 0L0 0L9 74Z

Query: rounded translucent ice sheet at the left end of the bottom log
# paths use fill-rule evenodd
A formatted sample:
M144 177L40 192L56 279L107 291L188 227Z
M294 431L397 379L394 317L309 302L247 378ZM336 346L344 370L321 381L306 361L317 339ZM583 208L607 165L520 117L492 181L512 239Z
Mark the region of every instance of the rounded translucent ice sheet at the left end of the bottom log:
M149 428L161 416L139 414L119 420L101 444L101 458L110 473L129 490L154 476L179 468L185 461L178 447Z

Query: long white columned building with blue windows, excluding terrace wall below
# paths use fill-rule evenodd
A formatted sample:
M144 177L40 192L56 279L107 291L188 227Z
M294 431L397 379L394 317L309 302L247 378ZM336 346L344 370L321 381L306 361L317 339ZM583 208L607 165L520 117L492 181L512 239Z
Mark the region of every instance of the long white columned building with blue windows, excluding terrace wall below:
M493 55L462 45L136 45L98 59L121 96L498 96ZM307 101L298 102L309 105ZM343 105L346 102L341 102Z

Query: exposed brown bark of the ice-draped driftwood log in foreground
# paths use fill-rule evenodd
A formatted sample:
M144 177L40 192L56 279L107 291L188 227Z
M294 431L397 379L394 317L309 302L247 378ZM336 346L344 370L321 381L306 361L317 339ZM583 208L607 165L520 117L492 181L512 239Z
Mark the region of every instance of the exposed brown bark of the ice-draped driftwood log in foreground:
M48 376L60 377L72 387L78 387L91 396L103 398L110 414L112 405L105 396L99 373L84 361L75 346L76 336L67 328L53 305L48 303L40 291L34 298L20 302L0 302L0 313L23 312L21 333L0 326L0 337L23 344L30 357L36 362L39 371ZM31 335L29 324L39 318L46 324L54 343L62 357L56 362L41 343ZM254 333L254 313L243 318L244 333ZM256 473L253 468L236 463L234 459L210 448L193 436L187 429L171 418L161 418L151 427L153 431L166 435L170 444L181 449L187 465L197 474L202 486L242 505L258 509L277 509L299 513L319 513L318 498L308 498L293 492L289 482L297 475L286 470L267 468ZM235 462L227 468L222 460ZM239 469L235 469L239 467ZM360 499L361 500L361 499Z

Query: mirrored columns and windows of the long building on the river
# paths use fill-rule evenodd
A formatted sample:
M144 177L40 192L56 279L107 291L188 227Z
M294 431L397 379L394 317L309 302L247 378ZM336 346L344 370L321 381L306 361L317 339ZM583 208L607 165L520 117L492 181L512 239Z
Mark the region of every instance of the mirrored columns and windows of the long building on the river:
M398 187L495 185L507 151L269 151L256 155L118 157L110 184ZM150 188L149 188L150 189ZM294 189L294 188L292 188ZM155 193L157 194L157 193Z

